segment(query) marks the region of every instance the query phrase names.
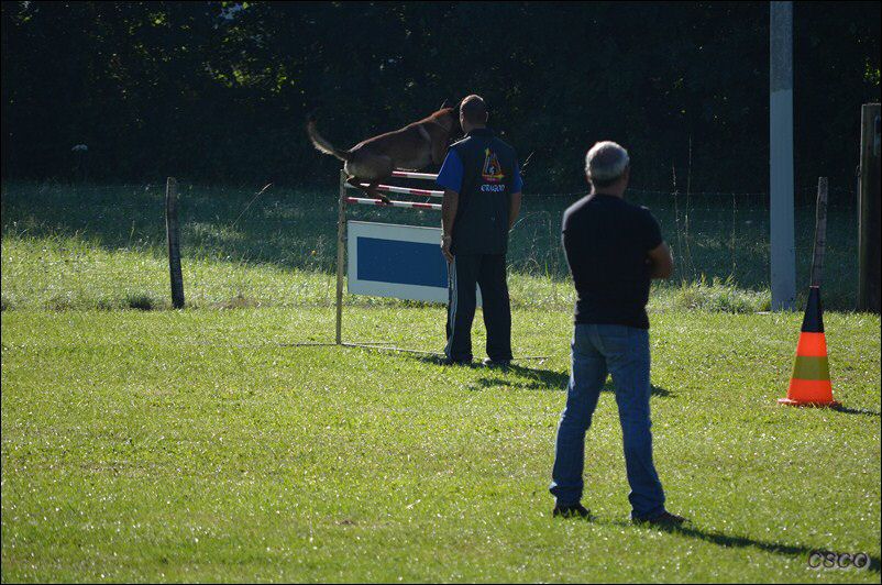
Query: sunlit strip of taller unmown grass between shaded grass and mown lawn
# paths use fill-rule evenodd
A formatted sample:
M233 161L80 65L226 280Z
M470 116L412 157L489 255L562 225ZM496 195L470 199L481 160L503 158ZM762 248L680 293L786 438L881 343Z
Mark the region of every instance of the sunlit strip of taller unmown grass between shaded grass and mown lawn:
M10 234L2 241L2 257L3 310L170 307L168 261L157 250L108 251L75 236ZM192 308L328 307L335 299L337 279L330 272L190 257L183 273L186 301ZM563 278L516 272L509 286L515 308L567 310L573 306L572 285ZM709 306L712 299L714 308L729 312L769 308L768 291L742 289L730 280L657 287L652 307L691 309ZM346 296L345 302L403 305L359 296Z

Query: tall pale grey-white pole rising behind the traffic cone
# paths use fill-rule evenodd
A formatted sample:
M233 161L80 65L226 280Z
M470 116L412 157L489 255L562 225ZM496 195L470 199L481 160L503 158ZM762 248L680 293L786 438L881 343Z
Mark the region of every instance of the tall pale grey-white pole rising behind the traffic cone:
M793 225L793 2L771 2L769 27L769 157L772 310L796 297Z

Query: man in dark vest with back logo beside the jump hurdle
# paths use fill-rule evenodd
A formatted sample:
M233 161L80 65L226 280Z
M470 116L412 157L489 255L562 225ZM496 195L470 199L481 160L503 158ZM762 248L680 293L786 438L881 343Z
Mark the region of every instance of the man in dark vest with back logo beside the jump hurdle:
M465 137L451 145L437 183L444 189L441 251L448 260L446 363L472 362L472 320L481 287L487 328L485 365L511 361L511 308L506 283L508 231L520 211L523 181L514 148L487 128L479 96L460 104Z

